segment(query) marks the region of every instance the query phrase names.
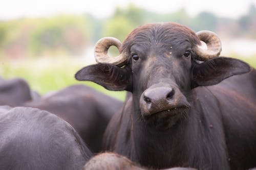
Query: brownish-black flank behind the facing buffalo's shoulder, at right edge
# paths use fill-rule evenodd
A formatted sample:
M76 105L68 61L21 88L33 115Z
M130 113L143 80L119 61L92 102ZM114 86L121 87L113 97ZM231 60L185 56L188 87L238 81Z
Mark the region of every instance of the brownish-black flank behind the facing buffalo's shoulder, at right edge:
M230 169L256 166L256 70L207 88L222 113Z

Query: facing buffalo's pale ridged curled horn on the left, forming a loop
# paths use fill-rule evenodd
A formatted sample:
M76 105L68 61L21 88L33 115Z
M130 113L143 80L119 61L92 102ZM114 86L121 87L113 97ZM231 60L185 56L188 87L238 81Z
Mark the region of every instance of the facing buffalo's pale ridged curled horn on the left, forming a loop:
M110 63L119 67L123 66L127 60L127 55L121 53L117 57L110 57L108 50L110 46L115 45L118 50L121 46L121 42L114 37L104 37L98 40L94 47L94 57L97 63Z

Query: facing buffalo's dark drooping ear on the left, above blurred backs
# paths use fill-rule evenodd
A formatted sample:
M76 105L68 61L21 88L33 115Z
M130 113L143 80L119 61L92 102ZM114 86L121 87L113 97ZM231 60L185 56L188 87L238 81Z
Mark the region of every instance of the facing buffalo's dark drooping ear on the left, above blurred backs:
M76 80L92 81L108 90L132 90L132 71L113 64L99 63L83 67L75 74Z

